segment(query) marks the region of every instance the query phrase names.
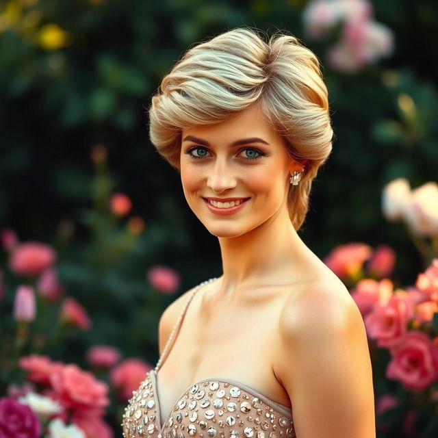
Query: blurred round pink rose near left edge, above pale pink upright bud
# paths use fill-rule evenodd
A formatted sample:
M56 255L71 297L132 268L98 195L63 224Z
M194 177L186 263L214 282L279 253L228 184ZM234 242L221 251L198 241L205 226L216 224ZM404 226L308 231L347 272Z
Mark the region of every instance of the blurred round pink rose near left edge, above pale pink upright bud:
M39 275L55 262L51 246L39 242L18 244L10 257L10 270L17 275Z

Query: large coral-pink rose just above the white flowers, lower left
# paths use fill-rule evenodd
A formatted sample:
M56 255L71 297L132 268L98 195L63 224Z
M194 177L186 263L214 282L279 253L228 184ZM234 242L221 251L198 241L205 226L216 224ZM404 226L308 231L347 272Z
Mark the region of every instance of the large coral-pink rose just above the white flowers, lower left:
M107 384L75 364L64 365L50 376L50 381L64 407L90 409L109 404Z

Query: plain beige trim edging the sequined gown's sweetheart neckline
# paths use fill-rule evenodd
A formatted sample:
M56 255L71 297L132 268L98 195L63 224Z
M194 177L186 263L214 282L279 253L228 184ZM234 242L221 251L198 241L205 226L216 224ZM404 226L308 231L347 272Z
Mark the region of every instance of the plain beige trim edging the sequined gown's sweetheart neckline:
M273 409L276 409L276 411L282 412L283 414L287 415L288 417L292 417L292 409L286 406L285 404L281 404L279 402L276 402L269 398L268 396L265 396L264 394L261 394L261 392L257 391L257 389L253 389L252 387L249 387L248 385L245 385L244 383L240 383L238 381L233 380L232 378L228 377L208 377L203 378L200 381L196 381L195 383L192 383L185 391L183 391L183 394L177 398L175 403L172 406L172 409L170 409L170 413L167 416L166 420L162 421L162 411L161 411L161 403L159 401L159 391L158 391L158 375L156 374L155 370L151 370L149 372L149 380L151 381L151 385L153 387L153 392L155 394L155 407L157 409L157 425L159 428L159 432L162 433L164 426L166 426L166 422L168 421L168 418L172 411L174 411L175 407L177 406L179 400L185 396L185 394L188 394L188 391L190 391L190 388L192 388L194 385L201 385L201 383L207 382L207 381L217 381L222 383L228 383L229 385L234 385L235 387L239 387L240 389L243 389L244 391L248 392L248 394L252 394L255 397L258 397L260 400L268 404L268 406L272 407Z

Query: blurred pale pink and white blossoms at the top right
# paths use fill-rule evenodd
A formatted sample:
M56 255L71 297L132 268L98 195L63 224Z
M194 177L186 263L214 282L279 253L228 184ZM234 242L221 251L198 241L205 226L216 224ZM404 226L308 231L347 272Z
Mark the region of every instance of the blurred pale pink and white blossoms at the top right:
M320 39L341 25L340 39L328 52L333 68L353 73L394 51L391 30L372 20L367 0L313 0L303 14L307 38Z

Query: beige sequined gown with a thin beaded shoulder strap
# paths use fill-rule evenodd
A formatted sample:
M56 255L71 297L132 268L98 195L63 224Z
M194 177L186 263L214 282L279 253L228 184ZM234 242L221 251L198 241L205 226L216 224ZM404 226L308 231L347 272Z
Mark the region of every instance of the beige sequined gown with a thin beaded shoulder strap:
M177 333L190 301L207 281L195 287L172 333ZM170 339L168 344L170 344ZM175 341L175 339L174 339ZM123 414L125 438L294 438L292 410L230 378L211 377L190 385L162 419L155 369L133 391Z

